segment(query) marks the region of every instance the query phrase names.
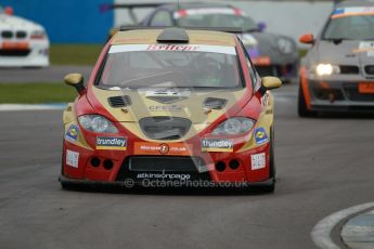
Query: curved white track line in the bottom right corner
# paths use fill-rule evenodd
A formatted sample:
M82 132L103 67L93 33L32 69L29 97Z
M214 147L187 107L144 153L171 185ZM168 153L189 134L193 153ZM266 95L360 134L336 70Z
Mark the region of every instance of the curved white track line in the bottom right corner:
M317 225L313 227L311 232L313 243L322 249L340 249L337 245L333 243L333 240L330 237L330 234L333 231L333 228L344 219L347 219L348 217L354 213L361 212L370 208L374 208L374 202L367 202L351 208L347 208L324 218L319 223L317 223Z

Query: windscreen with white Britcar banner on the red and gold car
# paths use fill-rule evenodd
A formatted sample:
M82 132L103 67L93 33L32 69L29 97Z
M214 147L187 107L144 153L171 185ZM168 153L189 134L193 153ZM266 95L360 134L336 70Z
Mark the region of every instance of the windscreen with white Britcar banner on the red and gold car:
M243 88L234 47L112 45L98 84L103 88Z

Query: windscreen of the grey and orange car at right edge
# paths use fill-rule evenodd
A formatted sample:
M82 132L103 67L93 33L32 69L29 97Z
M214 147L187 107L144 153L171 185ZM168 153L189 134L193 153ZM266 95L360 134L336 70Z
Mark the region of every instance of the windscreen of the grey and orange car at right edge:
M345 8L336 10L324 29L322 39L374 40L374 15L360 12L360 9ZM364 10L362 9L362 11Z

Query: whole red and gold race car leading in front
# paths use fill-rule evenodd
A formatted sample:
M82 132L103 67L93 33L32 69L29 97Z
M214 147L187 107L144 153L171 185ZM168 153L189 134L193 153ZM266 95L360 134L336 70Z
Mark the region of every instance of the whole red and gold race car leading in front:
M273 96L238 38L181 28L117 32L63 115L63 187L245 184L274 189Z

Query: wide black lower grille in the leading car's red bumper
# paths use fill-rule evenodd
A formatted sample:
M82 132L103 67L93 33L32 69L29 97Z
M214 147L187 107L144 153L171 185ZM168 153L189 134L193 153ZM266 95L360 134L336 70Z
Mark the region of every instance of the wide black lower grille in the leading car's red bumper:
M116 181L137 179L139 173L190 174L190 180L211 179L204 160L198 157L131 156L124 160Z

